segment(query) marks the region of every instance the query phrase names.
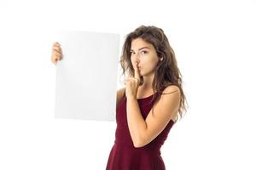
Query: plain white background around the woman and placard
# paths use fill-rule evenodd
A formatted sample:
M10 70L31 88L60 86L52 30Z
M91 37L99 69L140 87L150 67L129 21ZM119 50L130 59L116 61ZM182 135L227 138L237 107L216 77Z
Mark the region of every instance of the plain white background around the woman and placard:
M189 103L161 148L166 169L256 169L255 8L253 0L0 1L0 169L105 169L116 124L54 118L47 32L125 35L140 25L166 32Z

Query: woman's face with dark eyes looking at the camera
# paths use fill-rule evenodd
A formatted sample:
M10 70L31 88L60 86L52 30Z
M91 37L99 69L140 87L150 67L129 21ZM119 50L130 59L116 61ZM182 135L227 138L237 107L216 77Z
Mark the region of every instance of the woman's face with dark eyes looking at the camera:
M154 74L154 70L159 60L155 48L151 43L143 41L141 37L132 40L131 63L133 68L135 68L136 62L138 62L141 76Z

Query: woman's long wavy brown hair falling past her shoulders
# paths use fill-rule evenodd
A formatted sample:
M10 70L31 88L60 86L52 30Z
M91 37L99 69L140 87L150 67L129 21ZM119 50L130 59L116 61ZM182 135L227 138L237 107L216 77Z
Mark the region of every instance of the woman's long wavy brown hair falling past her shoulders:
M164 88L169 85L176 85L181 92L178 113L183 117L183 111L186 112L187 110L184 105L186 97L183 94L182 74L177 67L174 51L161 28L156 26L139 26L126 35L121 58L119 60L123 69L122 74L125 75L125 73L127 73L128 75L134 76L134 69L131 64L131 42L138 37L142 38L145 42L151 43L158 57L163 58L155 68L154 81L152 82L154 90L153 99L156 98L155 102L158 102L160 100L159 94L163 94ZM143 82L143 77L141 78ZM153 99L151 101L153 101ZM177 116L175 117L175 122L177 122Z

